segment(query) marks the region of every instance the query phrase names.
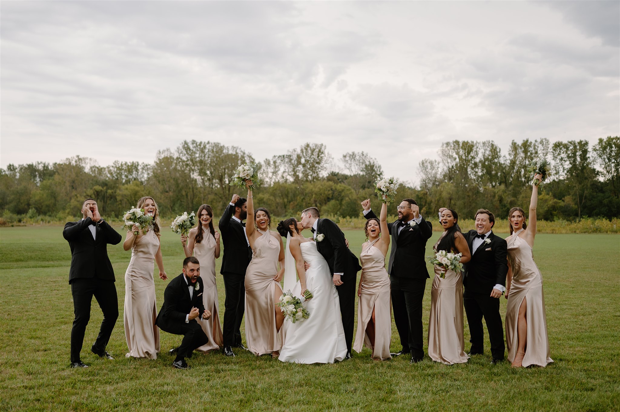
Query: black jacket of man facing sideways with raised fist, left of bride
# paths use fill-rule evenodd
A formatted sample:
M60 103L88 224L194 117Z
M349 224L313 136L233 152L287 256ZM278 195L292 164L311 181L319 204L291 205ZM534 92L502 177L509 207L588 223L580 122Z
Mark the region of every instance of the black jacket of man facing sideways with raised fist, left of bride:
M234 206L229 204L219 220L219 233L224 242L224 257L219 273L245 275L247 265L252 260L252 248L247 244L246 226L232 218Z

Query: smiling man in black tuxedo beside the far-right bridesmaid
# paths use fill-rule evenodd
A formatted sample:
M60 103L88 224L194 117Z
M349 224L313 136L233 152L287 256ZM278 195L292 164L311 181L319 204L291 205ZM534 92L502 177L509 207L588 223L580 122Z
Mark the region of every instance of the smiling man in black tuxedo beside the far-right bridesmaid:
M443 210L443 209L440 209ZM441 212L440 212L441 213ZM507 243L492 231L495 216L486 209L476 212L475 230L465 233L471 260L465 264L463 306L471 335L470 354L482 354L484 335L482 317L489 330L491 363L504 358L504 334L500 315L500 296L506 290L508 273Z

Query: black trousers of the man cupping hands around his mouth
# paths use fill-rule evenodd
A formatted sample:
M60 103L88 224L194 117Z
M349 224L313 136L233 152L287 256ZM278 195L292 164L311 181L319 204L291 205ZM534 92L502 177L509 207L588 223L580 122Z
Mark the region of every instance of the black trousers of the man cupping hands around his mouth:
M101 322L99 335L94 343L95 349L100 352L105 350L118 319L118 296L112 280L98 278L74 279L71 281L71 295L75 315L71 328L71 363L74 363L80 361L86 325L91 319L92 297L95 297L104 313L104 320Z

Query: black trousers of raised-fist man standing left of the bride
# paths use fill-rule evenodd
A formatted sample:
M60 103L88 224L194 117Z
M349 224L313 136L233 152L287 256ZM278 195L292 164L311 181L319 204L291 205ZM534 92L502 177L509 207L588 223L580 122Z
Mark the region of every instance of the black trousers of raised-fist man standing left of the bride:
M224 272L224 346L241 346L241 322L246 311L246 274Z

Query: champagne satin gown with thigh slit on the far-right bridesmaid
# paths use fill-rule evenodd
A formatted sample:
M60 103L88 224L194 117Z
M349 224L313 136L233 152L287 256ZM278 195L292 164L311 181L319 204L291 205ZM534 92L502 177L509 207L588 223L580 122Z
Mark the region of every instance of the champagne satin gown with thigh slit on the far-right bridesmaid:
M549 357L547 314L542 292L541 272L534 262L533 250L528 242L514 233L508 239L508 262L512 270L512 283L506 306L506 346L508 361L515 360L518 345L517 323L523 299L526 304L527 340L523 366L547 366L553 362Z

